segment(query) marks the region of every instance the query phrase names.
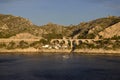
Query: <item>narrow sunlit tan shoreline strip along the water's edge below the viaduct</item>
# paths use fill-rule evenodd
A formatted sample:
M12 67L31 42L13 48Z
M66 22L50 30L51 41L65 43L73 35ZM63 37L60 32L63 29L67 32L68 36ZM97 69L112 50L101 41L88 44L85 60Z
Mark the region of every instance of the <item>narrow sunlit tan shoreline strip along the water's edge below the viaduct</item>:
M119 55L120 49L118 50L103 50L103 49L76 49L71 52L70 49L35 49L35 48L27 48L27 49L0 49L0 54L89 54L89 55Z

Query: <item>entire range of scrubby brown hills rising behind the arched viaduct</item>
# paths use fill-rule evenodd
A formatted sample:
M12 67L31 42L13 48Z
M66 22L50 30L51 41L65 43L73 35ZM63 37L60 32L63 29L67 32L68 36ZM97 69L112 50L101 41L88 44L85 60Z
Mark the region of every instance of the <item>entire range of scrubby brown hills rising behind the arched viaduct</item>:
M120 16L108 16L78 25L48 23L37 26L19 16L0 14L0 38L44 38L47 40L120 38Z

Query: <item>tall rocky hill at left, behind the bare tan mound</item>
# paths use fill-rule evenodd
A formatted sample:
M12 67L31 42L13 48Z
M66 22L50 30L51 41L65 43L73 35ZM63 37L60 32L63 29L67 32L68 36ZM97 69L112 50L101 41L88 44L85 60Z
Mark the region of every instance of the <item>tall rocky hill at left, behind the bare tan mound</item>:
M40 36L42 31L41 28L32 24L28 19L0 14L0 38L9 38L23 32Z

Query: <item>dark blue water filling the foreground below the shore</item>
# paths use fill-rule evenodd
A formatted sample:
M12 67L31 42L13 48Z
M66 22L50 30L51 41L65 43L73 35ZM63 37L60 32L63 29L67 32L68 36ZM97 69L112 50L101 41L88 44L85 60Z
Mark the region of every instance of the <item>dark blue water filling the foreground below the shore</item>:
M0 55L0 80L120 80L120 57Z

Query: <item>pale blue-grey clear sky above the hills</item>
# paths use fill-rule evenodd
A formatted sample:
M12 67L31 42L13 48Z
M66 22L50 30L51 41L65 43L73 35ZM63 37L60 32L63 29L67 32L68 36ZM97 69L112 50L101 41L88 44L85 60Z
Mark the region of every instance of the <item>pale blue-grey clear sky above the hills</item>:
M120 0L0 0L0 13L24 17L36 25L70 25L120 16Z

